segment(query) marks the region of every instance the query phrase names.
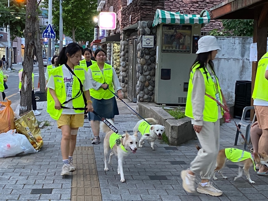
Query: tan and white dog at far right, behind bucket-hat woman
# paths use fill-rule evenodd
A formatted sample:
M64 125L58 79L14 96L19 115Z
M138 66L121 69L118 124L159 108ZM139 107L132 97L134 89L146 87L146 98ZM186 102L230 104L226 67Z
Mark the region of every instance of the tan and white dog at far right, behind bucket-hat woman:
M199 146L196 145L197 150L201 149ZM268 162L268 155L267 153L255 153L254 160L256 164L263 164L267 166ZM255 183L255 181L252 181L250 179L250 173L249 169L250 167L254 167L255 169L255 163L251 156L250 152L246 152L241 149L236 148L226 148L219 150L218 156L217 156L217 162L216 162L216 168L214 169L213 179L218 180L218 178L215 176L216 172L219 172L221 174L221 177L223 179L227 179L227 177L224 177L224 175L221 172L221 169L225 166L226 161L232 161L238 165L238 175L234 177L234 181L243 176L243 170L246 174L247 180L250 183Z

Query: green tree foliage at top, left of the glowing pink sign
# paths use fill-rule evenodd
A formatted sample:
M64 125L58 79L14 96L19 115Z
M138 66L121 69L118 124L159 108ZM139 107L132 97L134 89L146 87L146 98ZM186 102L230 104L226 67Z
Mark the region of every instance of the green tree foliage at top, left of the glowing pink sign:
M59 0L52 0L52 23L59 39ZM44 7L48 7L48 0L44 0ZM97 0L68 0L62 4L63 33L74 36L76 41L92 41L94 38L93 17L97 16ZM74 39L74 38L73 38Z

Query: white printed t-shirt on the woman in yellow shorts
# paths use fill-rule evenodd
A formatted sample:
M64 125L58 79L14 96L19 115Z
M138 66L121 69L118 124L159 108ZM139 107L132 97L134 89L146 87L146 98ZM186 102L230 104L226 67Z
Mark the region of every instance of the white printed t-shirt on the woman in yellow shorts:
M60 68L60 67L58 67L58 68ZM63 71L63 80L64 80L64 85L65 85L65 92L67 94L68 86L70 84L71 85L73 84L74 75L68 70L68 68L65 65L62 66L62 71ZM85 71L85 80L84 80L84 82L82 84L83 84L83 91L87 91L87 90L89 90L89 89L91 89L93 87L92 83L90 81L89 75L87 74L86 71ZM54 79L53 79L52 76L50 76L50 78L49 78L49 80L47 82L47 88L51 88L51 89L55 90ZM71 96L66 96L66 101L70 100L71 98L72 98ZM73 107L72 100L69 101L68 103L64 104L63 106L72 108ZM82 114L82 113L83 112L76 113L74 109L66 109L66 108L64 108L62 110L62 114Z

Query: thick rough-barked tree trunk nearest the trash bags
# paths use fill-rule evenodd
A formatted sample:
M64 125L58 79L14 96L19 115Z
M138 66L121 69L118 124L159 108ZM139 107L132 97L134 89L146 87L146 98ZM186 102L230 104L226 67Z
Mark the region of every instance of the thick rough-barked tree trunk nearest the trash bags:
M35 23L38 18L37 1L27 0L26 23L24 29L25 52L24 65L21 78L20 115L32 110L32 71L35 49Z

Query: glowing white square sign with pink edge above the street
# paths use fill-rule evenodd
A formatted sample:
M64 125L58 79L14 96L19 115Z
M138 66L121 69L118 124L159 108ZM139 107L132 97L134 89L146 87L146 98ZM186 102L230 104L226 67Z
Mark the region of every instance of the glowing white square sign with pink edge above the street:
M116 13L101 12L99 14L100 29L116 29Z

